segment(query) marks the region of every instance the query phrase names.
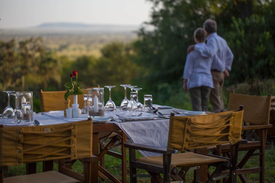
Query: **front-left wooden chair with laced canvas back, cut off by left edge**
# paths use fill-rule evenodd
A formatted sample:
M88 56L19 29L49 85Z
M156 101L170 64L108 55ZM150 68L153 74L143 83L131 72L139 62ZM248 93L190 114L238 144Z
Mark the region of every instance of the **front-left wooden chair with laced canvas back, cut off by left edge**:
M0 182L91 182L91 168L98 166L92 155L92 120L46 126L0 127ZM81 159L83 174L64 166L64 159ZM58 159L58 172L3 178L8 166Z

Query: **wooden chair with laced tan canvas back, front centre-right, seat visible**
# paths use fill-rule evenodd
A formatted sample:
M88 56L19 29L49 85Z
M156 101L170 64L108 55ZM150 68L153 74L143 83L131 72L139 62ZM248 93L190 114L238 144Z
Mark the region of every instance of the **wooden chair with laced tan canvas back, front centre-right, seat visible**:
M201 116L174 116L171 114L167 148L148 145L125 143L129 148L130 180L137 182L136 169L144 169L152 176L151 182L183 181L185 172L190 167L210 165L216 167L208 179L214 182L229 176L230 182L236 182L236 162L238 157L238 143L241 140L243 110L227 111ZM230 143L233 156L229 158L185 152L187 149L206 148L211 145ZM139 157L136 159L135 150L161 153L163 156ZM173 154L175 150L183 153ZM181 168L179 170L178 168ZM222 170L229 169L230 173L220 176ZM160 176L163 174L163 180ZM199 181L195 177L194 182Z

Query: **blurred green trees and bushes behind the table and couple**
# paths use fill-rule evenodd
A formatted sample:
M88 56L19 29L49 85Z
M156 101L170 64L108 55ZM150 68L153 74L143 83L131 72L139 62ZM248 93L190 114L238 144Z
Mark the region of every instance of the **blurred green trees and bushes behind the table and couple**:
M225 105L228 91L233 88L243 94L274 95L275 1L149 1L151 19L137 31L138 38L131 43L106 44L99 57L58 56L53 49L45 48L40 37L18 43L14 39L0 40L0 111L7 105L3 90L29 90L34 92L34 110L39 112L38 89L65 90L63 85L70 82L74 70L83 87L116 85L112 100L118 106L124 98L124 89L119 85L131 84L143 88L140 98L152 94L154 103L191 109L188 92L182 89L186 50L194 44L194 30L208 18L216 20L218 34L227 40L234 54L225 83ZM105 89L105 102L108 99Z

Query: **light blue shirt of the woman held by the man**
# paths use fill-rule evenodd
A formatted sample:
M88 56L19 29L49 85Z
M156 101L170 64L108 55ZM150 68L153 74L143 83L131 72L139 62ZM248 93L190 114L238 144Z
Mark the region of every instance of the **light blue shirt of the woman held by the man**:
M197 43L201 47L205 43ZM213 57L202 57L198 51L190 52L185 61L183 79L188 79L187 88L208 86L214 88L211 75Z

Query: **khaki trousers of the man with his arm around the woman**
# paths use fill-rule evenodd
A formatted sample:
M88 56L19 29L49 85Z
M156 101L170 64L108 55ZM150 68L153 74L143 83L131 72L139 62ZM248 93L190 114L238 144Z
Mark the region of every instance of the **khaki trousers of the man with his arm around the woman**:
M211 71L214 88L211 89L210 103L214 112L221 112L224 109L222 101L222 87L224 85L224 73L218 71Z

